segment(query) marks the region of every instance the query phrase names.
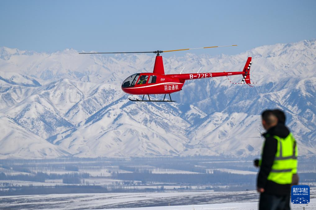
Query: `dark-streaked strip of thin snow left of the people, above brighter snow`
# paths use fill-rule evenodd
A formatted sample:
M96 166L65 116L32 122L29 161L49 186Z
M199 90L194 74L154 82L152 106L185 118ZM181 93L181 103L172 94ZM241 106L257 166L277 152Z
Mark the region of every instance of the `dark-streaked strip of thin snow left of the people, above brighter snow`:
M165 192L3 196L0 197L0 209L139 208L240 201L256 202L258 201L258 194L255 191L247 191L242 194L240 192Z

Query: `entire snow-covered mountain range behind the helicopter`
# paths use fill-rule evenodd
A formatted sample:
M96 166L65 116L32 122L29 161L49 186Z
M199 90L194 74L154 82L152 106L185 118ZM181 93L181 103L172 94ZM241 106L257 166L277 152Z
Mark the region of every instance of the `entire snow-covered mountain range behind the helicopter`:
M183 73L197 72L201 66L200 72L241 71L248 56L251 80L257 82L253 88L231 84L226 77L208 78L186 81L182 91L172 94L176 103L134 103L127 98L138 96L124 94L121 83L133 73L151 72L154 56L2 47L1 158L258 155L260 113L267 108L283 109L299 153L315 155L316 40L234 56L173 56L164 58L164 66L167 74L183 67ZM230 79L240 82L241 76ZM3 135L10 132L19 135ZM34 145L34 139L42 146ZM17 144L21 150L38 153L3 149L17 141L23 141ZM43 145L52 152L40 153Z

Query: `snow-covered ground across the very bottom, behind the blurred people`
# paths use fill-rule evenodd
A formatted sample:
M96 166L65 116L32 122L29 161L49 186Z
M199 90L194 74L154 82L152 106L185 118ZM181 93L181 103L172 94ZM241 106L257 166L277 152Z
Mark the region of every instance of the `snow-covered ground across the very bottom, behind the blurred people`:
M293 204L292 209L316 209L316 188L311 189L309 204ZM159 192L94 193L2 196L0 209L257 209L256 191L237 192Z

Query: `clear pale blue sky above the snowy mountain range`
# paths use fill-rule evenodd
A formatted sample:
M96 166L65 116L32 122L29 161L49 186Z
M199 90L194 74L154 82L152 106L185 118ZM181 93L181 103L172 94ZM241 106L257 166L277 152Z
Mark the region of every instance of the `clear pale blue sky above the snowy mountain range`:
M0 46L22 50L115 52L238 44L190 51L238 54L316 38L316 1L2 0L0 20Z

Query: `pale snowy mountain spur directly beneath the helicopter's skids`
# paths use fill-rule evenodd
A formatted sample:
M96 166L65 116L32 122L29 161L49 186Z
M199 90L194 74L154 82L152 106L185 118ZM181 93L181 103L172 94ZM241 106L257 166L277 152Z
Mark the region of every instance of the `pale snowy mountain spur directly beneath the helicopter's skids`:
M183 128L190 124L172 108L135 104L123 97L90 116L76 130L52 140L80 157L179 154L188 142Z

